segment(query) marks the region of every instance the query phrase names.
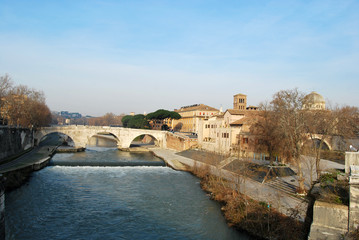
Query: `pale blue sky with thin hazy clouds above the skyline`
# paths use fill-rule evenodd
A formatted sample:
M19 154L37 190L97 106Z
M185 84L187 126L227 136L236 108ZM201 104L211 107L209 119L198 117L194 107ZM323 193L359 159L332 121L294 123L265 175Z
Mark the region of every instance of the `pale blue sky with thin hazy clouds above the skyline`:
M0 0L0 76L101 116L280 90L359 107L359 0Z

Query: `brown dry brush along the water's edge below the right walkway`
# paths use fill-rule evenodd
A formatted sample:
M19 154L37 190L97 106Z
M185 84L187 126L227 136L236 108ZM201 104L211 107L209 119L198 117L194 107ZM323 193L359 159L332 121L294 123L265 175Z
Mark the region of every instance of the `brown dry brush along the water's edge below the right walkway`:
M304 224L275 211L267 203L258 202L231 189L208 169L195 167L193 173L202 179L202 188L220 202L230 226L266 239L305 239ZM293 211L295 215L295 211Z

